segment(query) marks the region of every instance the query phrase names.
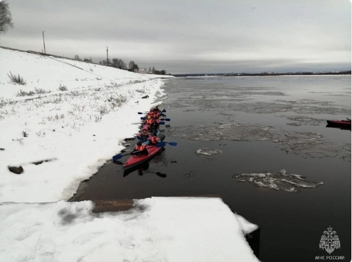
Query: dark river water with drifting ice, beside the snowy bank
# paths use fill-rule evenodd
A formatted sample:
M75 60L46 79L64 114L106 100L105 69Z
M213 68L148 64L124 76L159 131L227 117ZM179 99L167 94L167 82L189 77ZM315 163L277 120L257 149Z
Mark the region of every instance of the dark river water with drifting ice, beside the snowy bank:
M109 162L72 200L219 196L259 225L261 261L351 261L351 131L326 127L351 118L351 75L182 77L164 92L177 146L129 174Z

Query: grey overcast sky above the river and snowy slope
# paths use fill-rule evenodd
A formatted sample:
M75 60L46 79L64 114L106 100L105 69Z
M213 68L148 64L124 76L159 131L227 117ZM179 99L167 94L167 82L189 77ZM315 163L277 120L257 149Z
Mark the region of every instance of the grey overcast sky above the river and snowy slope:
M349 0L7 0L0 46L168 73L351 70Z

